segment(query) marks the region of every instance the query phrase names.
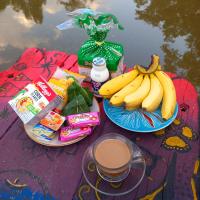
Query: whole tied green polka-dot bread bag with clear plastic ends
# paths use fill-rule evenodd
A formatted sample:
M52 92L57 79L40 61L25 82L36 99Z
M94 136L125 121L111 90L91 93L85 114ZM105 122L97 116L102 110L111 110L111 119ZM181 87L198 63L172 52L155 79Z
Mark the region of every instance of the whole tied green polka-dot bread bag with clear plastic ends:
M117 18L109 13L92 11L90 9L79 9L68 13L71 19L57 26L59 30L65 30L74 26L83 28L89 35L78 51L79 73L90 80L92 61L96 57L106 60L106 65L111 77L124 72L123 68L123 46L118 43L105 41L110 29L117 27L123 29Z

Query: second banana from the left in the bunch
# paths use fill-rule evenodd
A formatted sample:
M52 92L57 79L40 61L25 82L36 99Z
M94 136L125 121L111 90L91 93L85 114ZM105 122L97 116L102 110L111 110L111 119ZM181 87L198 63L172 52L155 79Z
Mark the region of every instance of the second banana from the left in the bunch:
M124 97L134 92L141 85L142 81L143 81L143 75L140 74L131 83L129 83L119 92L114 94L110 99L110 103L113 106L120 106L124 101Z

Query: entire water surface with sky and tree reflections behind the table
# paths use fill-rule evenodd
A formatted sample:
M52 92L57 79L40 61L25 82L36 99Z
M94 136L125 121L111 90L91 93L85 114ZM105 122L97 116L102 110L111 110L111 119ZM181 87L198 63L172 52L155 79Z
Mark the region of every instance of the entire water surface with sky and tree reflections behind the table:
M0 71L27 47L76 53L87 38L79 29L58 31L66 11L90 7L115 14L125 27L111 31L110 40L125 48L128 65L147 65L160 55L166 70L186 76L200 88L199 0L1 0Z

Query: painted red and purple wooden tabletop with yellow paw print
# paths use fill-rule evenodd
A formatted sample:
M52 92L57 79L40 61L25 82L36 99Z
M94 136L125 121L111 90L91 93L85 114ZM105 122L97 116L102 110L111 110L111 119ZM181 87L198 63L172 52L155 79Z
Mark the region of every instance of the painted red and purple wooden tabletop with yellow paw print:
M31 48L0 73L0 199L110 199L95 192L81 172L81 159L88 145L109 132L123 134L137 143L147 163L140 186L129 195L111 199L200 199L200 109L198 94L190 82L170 74L179 113L164 130L153 134L129 132L101 112L101 125L90 137L64 148L49 148L27 137L7 102L39 75L49 79L57 66L77 71L77 56Z

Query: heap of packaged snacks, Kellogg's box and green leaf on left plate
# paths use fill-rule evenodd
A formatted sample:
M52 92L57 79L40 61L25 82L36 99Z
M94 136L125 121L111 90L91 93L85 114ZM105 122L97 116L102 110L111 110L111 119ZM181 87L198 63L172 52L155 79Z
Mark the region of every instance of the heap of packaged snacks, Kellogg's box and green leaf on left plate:
M41 142L68 142L91 134L99 113L90 112L93 95L81 86L85 77L57 68L48 82L28 84L9 104Z

